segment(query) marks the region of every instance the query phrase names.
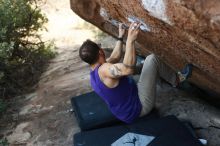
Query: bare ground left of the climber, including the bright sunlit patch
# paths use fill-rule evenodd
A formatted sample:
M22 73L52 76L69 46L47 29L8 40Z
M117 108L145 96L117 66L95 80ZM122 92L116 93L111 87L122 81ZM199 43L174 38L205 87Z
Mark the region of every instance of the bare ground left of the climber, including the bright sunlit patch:
M50 61L37 89L13 99L0 122L0 136L11 146L70 146L80 129L71 112L70 98L91 90L89 68L78 57L79 45L100 33L70 9L69 0L46 0L40 4L48 17L43 40L53 41L58 55ZM103 38L104 39L104 38ZM113 39L104 39L112 47Z

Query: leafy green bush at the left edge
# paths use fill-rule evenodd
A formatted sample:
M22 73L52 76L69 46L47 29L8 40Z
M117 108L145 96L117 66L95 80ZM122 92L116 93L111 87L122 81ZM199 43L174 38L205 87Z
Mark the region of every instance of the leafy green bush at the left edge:
M0 98L35 84L54 56L37 33L47 21L34 0L0 0Z

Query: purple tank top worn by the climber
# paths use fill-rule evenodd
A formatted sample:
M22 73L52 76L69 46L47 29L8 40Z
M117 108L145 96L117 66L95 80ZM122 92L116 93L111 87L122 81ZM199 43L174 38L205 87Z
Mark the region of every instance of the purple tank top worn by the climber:
M134 80L130 77L122 77L117 87L108 88L99 78L99 67L90 72L92 88L118 119L131 123L140 115L142 108Z

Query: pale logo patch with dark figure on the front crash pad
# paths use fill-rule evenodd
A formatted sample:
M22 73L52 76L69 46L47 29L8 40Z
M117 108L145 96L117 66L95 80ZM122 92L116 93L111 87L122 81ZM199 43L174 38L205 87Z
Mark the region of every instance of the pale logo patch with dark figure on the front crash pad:
M111 146L147 146L155 137L127 133L115 141Z

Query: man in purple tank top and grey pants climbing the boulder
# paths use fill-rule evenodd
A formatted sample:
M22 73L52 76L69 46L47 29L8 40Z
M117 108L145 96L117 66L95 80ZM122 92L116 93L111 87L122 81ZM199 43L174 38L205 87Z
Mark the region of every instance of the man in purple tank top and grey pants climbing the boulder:
M163 78L173 86L186 80L191 74L188 65L178 74L164 64L156 55L146 57L136 84L129 75L134 73L136 54L134 43L140 23L132 23L128 29L125 55L122 63L122 38L125 29L119 25L119 37L108 59L102 48L87 40L79 49L80 58L90 65L90 81L95 92L106 102L111 112L121 121L131 123L148 114L155 104L156 81Z

